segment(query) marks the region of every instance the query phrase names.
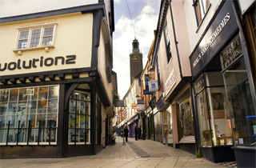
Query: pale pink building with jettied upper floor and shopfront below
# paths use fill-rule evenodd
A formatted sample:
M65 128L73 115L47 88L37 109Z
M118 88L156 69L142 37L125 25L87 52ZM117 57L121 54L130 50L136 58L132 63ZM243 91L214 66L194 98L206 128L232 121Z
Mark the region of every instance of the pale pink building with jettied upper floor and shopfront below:
M162 122L162 142L195 154L186 27L183 2L162 1L151 66L158 80L155 106Z

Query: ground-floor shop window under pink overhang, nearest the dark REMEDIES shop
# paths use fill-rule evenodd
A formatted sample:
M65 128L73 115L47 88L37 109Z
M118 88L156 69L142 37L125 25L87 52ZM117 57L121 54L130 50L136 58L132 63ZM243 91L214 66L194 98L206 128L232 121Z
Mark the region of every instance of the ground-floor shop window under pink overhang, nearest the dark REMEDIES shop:
M194 118L190 99L190 97L186 98L179 105L179 120L182 137L180 142L194 142Z

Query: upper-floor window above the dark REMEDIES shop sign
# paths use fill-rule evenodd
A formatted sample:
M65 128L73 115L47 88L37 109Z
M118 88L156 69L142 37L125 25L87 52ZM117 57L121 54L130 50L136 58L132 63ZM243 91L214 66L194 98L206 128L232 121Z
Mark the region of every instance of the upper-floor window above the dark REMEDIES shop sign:
M194 0L194 10L198 21L198 26L202 22L203 17L206 14L210 6L210 0Z

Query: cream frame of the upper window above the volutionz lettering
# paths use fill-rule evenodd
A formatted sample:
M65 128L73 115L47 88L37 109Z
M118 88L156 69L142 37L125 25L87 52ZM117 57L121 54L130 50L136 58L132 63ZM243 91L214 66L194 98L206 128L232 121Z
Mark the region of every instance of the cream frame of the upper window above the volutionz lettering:
M54 28L53 34L52 34L52 37L53 37L52 43L49 44L49 45L46 45L46 46L42 46L42 39L44 37L49 37L49 36L44 36L43 35L44 30L46 28L49 28L49 27ZM25 50L39 50L39 49L44 49L44 50L46 50L46 52L49 52L50 48L54 48L54 39L55 39L56 27L57 27L57 23L49 23L49 24L41 24L41 25L35 25L35 26L25 26L25 27L18 28L16 43L15 43L15 46L14 46L15 49L13 50L14 53L18 53L19 55L21 55L22 51L25 51ZM37 30L37 29L41 29L38 46L30 47L32 30ZM18 42L20 41L20 39L19 39L20 33L22 31L26 31L26 30L29 31L28 37L26 38L27 39L26 48L18 49Z

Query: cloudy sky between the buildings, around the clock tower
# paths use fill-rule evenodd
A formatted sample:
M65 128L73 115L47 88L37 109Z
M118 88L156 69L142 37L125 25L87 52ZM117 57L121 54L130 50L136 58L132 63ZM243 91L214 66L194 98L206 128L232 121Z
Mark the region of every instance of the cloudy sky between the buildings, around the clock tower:
M160 0L127 0L133 18L136 39L143 55L143 67L157 29ZM130 20L126 0L114 0L114 71L118 74L120 98L130 87L130 52L134 40L134 27Z

